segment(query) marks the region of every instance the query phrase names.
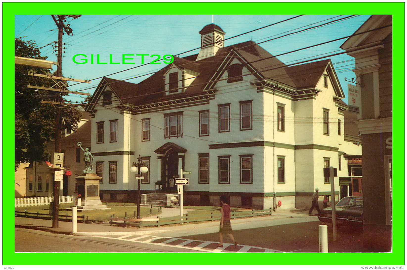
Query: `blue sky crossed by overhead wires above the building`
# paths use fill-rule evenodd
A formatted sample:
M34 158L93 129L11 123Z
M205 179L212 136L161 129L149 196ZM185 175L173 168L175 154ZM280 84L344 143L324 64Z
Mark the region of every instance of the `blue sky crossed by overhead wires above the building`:
M225 32L225 39L267 26L269 24L289 19L295 15L213 15L213 21ZM243 41L253 40L257 43L317 26L328 21L341 19L348 15L304 15L275 26L270 26L249 34L245 34L225 41L225 46ZM323 43L353 34L370 15L358 15L344 19L327 26L292 34L260 44L273 55L278 55L300 49L317 43ZM73 35L63 35L65 53L63 54L63 75L76 79L94 79L135 67L141 64L140 58L135 58L136 64L75 64L72 57L75 54L99 54L101 62L108 62L109 54L113 61L120 60L122 54L179 54L200 46L199 31L212 23L212 15L82 15L79 19L69 18ZM23 40L33 40L41 49L43 56L48 60L57 61L52 45L57 40L58 31L50 15L15 15L15 37ZM304 58L320 57L322 54L335 54L342 52L339 46L346 39L331 42L326 45L290 53L278 57L282 62L291 64ZM197 54L199 50L182 54L181 57ZM347 96L348 82L345 77L354 77L354 58L341 54L330 57L337 72L341 86ZM152 59L152 58L150 58ZM106 61L107 60L107 61ZM148 60L147 62L149 62ZM114 79L128 79L156 71L165 64L149 64L130 71L120 72L108 77ZM56 67L56 66L55 66ZM128 81L138 83L139 77ZM90 84L76 84L70 90L82 90L92 94L100 79ZM89 89L90 88L90 89ZM72 94L71 101L83 101L85 96ZM348 103L347 98L344 99Z

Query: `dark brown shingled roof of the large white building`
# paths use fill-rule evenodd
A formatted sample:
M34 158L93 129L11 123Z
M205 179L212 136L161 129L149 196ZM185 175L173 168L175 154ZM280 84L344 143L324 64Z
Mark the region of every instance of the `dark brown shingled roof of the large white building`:
M215 26L215 24L210 24L205 26L204 29ZM174 98L193 97L202 94L205 86L215 75L217 69L231 51L235 51L242 56L249 66L252 66L255 71L258 71L259 75L257 75L257 77L263 77L281 85L291 86L291 88L297 90L315 88L319 78L330 62L330 60L322 60L297 66L287 66L255 42L246 41L219 48L215 56L199 61L196 61L197 54L184 58L175 56L173 64L168 64L138 84L104 77L98 86L98 90L101 91L101 89L103 89L101 85L105 80L123 103L131 103L133 105L161 102ZM188 69L200 75L193 80L184 92L166 95L164 92L165 84L163 77L173 65L179 69ZM97 94L96 92L95 95L100 95L100 93ZM96 96L96 98L98 97ZM90 107L88 109L90 109Z

